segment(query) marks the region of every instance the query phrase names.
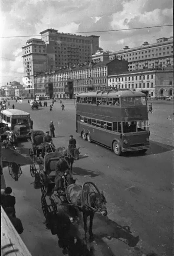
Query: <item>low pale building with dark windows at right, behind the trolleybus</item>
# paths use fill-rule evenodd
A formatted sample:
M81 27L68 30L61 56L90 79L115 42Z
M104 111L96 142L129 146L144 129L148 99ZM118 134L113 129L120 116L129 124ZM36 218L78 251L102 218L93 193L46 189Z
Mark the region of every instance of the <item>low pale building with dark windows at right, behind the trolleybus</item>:
M173 96L173 68L145 68L108 76L108 87L143 91L148 97Z

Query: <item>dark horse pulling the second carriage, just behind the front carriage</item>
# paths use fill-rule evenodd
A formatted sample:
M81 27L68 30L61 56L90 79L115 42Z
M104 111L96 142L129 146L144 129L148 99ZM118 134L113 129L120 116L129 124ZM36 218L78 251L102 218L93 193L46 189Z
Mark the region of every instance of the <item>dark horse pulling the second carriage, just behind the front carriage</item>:
M65 156L72 172L74 160L79 159L79 148L76 148L73 145L69 145L67 149L65 147L56 148L56 152L62 153L62 155Z

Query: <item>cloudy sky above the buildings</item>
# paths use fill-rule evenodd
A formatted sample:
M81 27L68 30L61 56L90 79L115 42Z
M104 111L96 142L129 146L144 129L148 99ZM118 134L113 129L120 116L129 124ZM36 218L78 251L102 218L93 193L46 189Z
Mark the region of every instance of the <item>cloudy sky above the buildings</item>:
M47 28L72 33L170 25L172 5L172 0L1 0L0 37L39 35ZM125 45L135 47L144 41L153 43L157 38L173 36L173 28L92 34L100 36L104 50L116 51ZM21 47L29 38L0 39L1 85L22 82Z

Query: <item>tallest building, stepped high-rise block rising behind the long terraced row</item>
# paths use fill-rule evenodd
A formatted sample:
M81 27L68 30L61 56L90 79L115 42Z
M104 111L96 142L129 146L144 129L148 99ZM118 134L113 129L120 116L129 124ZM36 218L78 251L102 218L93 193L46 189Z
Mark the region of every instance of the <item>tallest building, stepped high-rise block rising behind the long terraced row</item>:
M40 34L41 39L31 38L22 47L25 89L31 97L35 94L36 72L90 62L92 54L99 49L99 36L64 34L55 29L46 29Z

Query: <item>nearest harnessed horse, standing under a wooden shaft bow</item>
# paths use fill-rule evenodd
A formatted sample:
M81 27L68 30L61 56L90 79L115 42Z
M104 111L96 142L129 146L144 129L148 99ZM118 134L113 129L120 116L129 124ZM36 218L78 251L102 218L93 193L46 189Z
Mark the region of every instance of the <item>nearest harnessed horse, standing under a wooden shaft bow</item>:
M87 182L87 183L93 184L92 182ZM77 206L81 206L81 207L69 206L69 211L70 211L70 215L73 215L73 217L78 215L77 209L83 213L85 241L86 241L86 233L87 233L87 218L88 216L90 217L89 240L93 240L94 236L92 232L92 225L93 225L93 218L94 218L95 212L100 213L104 217L107 216L106 199L103 195L103 192L101 193L99 191L97 193L90 192L89 184L87 184L85 186L83 185L83 195L82 195L82 186L77 184L71 184L66 189L66 196L70 203Z

